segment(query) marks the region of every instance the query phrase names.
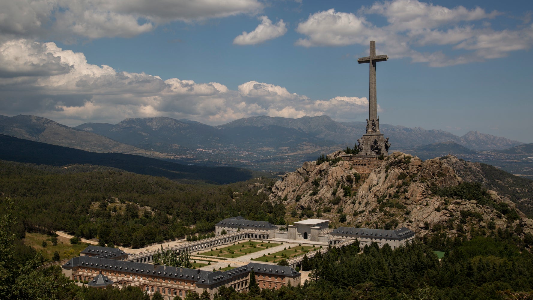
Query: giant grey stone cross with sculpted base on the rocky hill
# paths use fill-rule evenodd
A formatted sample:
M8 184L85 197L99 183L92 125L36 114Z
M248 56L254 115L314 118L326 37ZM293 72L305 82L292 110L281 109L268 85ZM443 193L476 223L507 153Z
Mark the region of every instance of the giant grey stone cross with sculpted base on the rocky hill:
M358 140L359 156L389 155L389 138L383 138L379 132L379 118L377 117L376 100L376 62L389 59L386 55L376 55L376 41L370 41L370 56L361 57L359 64L370 65L370 82L368 95L368 120L366 134Z

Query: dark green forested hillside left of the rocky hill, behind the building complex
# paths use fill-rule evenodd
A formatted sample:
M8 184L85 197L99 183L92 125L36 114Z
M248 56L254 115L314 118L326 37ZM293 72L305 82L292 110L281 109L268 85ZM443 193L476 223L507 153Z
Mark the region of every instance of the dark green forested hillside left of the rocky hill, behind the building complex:
M226 217L285 222L282 204L256 194L258 180L185 185L106 167L0 161L0 193L17 204L19 235L66 231L126 247L211 231Z

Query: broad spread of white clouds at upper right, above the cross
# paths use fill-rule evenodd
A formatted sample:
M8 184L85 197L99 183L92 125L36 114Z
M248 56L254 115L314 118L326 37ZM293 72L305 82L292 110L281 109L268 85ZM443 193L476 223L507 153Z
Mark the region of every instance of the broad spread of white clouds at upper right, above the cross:
M367 15L371 14L385 17L387 23L376 26L367 21ZM413 62L426 62L433 67L505 57L511 51L530 49L533 26L515 30L492 29L487 20L501 15L498 11L487 12L480 7L448 8L417 0L376 2L362 7L357 15L334 9L309 15L297 26L296 31L305 37L295 44L304 47L367 46L370 40L374 40L381 48L378 50L391 58L408 57ZM418 50L435 46L440 46L441 50Z

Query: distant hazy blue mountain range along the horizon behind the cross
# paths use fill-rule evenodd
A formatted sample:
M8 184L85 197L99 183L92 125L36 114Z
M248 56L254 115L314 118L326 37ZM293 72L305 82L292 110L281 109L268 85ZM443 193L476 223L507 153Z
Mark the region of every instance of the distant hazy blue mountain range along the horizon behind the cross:
M453 142L477 153L523 144L477 131L459 137L442 130L390 124L381 124L380 129L390 137L392 151ZM185 119L152 117L125 119L118 124L84 123L70 128L43 117L18 115L1 116L0 133L92 152L119 152L186 164L233 165L285 172L322 153L353 147L365 133L365 122L336 122L328 116L298 119L255 116L211 126Z

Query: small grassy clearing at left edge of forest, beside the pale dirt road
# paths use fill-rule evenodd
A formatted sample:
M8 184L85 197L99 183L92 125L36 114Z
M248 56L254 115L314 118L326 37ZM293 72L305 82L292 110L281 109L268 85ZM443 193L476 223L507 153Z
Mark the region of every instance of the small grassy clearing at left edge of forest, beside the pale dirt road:
M26 238L23 240L27 246L35 248L37 252L41 251L45 260L52 260L54 251L59 252L61 259L76 257L80 251L89 246L87 243L71 244L70 240L63 236L58 236L58 244L53 246L49 239L49 235L29 232L26 233ZM47 243L46 247L43 247L43 241Z

